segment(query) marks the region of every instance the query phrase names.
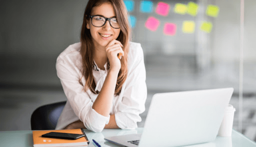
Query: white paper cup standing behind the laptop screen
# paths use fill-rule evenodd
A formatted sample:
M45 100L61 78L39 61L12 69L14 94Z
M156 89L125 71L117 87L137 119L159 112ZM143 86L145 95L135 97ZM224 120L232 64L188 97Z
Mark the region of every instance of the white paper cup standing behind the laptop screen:
M226 107L226 112L224 114L224 118L222 120L220 129L218 131L219 136L221 137L231 136L235 111L236 111L236 108L234 108L232 105L228 105L228 107Z

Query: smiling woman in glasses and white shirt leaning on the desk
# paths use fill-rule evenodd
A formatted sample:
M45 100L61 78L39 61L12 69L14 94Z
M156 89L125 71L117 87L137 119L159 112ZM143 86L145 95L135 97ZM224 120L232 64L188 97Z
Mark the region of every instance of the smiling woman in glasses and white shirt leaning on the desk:
M147 96L143 51L122 0L89 0L79 43L57 58L68 101L56 129L134 129Z

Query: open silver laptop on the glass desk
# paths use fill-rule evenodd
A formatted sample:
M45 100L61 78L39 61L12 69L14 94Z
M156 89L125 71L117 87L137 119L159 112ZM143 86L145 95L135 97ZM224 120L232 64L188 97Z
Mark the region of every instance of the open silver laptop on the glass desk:
M142 134L104 139L127 147L176 147L214 141L233 88L156 93Z

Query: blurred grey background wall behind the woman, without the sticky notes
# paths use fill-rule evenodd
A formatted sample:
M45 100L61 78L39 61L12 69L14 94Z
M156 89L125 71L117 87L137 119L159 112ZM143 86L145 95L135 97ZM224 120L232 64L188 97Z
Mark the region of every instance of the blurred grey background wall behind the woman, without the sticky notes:
M30 116L37 107L65 101L56 75L56 58L70 44L79 42L87 0L1 0L0 5L0 131L29 130ZM143 127L152 95L157 92L234 87L230 103L236 107L238 129L240 57L240 0L163 0L168 16L153 10L143 13L134 0L136 17L132 41L142 45L147 74L148 99L142 113ZM174 13L176 3L199 5L196 16ZM205 14L209 4L220 8L218 17ZM243 130L256 139L256 2L245 1ZM154 32L145 27L148 17L160 21ZM182 32L184 21L194 21L194 33ZM212 31L200 30L202 21ZM174 36L164 34L164 24L176 24Z

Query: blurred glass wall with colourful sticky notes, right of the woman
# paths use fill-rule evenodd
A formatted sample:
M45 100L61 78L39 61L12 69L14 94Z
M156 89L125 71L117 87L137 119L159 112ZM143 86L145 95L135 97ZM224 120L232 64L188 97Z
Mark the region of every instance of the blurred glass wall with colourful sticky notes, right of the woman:
M245 11L244 38L250 41L244 40L242 60L240 0L124 2L133 28L132 41L141 43L144 50L146 106L158 92L234 87L230 100L236 108L233 127L255 140L255 33L250 34L256 32L252 25L256 22L255 2L245 4L249 10ZM143 118L147 111L148 107Z

